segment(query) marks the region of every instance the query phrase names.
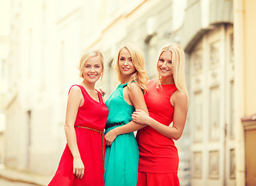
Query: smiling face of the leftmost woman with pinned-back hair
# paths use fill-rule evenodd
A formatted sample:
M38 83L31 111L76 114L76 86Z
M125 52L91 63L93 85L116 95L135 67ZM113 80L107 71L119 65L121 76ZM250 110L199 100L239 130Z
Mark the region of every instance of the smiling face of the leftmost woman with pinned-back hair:
M84 81L95 84L100 78L102 71L103 65L100 57L89 57L82 68L82 77Z

